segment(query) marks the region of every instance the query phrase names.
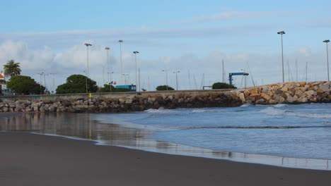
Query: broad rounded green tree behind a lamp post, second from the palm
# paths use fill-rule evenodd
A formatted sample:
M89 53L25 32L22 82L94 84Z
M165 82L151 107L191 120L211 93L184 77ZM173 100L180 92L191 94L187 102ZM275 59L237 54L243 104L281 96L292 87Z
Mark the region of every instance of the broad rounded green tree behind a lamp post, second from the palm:
M66 78L66 83L57 87L57 94L86 93L86 81L88 92L97 92L96 82L87 78L85 75L70 75Z

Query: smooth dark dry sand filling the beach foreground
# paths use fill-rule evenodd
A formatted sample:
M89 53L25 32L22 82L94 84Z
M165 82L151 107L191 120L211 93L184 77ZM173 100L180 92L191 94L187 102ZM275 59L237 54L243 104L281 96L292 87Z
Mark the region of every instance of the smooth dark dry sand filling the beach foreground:
M0 185L331 185L331 171L158 154L0 132Z

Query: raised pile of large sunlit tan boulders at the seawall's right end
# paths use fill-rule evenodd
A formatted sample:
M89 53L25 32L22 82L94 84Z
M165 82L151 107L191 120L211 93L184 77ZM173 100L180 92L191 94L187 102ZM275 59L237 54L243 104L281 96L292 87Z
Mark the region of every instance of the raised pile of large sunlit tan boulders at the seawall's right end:
M303 104L331 101L331 82L286 82L232 91L243 104Z

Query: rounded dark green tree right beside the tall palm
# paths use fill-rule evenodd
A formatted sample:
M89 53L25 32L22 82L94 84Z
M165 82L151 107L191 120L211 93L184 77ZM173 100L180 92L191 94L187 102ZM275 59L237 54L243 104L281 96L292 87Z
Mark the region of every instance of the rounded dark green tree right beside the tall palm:
M17 94L44 94L45 87L40 86L33 78L25 75L11 77L7 82L7 87Z

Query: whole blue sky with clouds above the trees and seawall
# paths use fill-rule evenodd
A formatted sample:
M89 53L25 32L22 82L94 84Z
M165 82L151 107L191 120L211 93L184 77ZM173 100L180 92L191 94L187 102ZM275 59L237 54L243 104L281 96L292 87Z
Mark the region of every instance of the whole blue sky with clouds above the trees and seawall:
M133 51L139 51L140 85L147 90L165 85L166 77L176 87L178 71L179 89L227 82L228 73L243 71L250 73L247 86L271 84L282 81L277 32L284 30L285 80L327 80L323 40L331 39L330 7L320 0L1 0L0 66L14 59L22 75L54 90L69 75L85 75L89 43L89 77L100 86L136 84ZM245 85L243 77L233 79Z

